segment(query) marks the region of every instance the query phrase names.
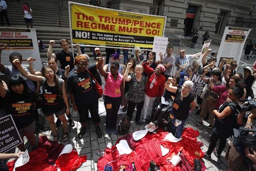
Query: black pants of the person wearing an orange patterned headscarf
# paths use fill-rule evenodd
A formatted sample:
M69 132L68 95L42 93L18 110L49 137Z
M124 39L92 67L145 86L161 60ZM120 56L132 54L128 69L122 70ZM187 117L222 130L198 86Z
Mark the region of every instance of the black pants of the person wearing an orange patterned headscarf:
M92 103L92 104L83 104L83 105L76 104L76 106L78 108L80 123L86 122L86 120L89 116L89 110L90 110L90 114L93 119L93 123L98 124L100 122L98 101L96 103Z

